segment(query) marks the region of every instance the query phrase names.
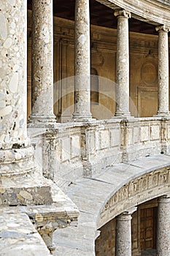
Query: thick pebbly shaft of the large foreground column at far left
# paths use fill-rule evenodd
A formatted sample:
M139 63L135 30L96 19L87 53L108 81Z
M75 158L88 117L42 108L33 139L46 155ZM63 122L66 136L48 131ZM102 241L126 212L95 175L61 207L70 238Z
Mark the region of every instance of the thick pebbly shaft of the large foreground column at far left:
M26 127L27 5L22 1L14 7L10 1L1 1L0 148L10 149L28 144Z

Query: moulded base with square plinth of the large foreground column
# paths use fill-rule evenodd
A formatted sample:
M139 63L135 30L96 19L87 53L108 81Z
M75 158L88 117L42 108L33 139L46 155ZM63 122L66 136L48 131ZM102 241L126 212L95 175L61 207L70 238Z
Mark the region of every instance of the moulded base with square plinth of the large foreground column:
M36 168L33 148L0 151L0 206L51 204L50 184Z

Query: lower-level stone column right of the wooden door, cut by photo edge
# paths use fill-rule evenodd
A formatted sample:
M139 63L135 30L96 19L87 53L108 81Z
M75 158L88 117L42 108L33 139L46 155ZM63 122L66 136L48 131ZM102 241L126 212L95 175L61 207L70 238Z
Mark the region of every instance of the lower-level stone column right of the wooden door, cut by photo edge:
M158 199L157 256L170 255L170 196Z

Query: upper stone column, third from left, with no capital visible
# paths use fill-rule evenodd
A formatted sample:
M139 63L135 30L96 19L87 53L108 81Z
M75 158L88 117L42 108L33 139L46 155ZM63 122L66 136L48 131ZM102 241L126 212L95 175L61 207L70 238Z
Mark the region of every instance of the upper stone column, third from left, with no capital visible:
M89 0L75 7L75 121L88 121L90 113L90 17Z

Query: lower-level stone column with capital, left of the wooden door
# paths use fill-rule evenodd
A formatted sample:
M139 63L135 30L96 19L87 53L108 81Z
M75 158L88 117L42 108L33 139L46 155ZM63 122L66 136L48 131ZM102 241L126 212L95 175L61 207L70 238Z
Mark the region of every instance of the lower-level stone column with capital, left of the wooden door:
M117 216L116 222L116 256L131 256L131 214L136 207Z

